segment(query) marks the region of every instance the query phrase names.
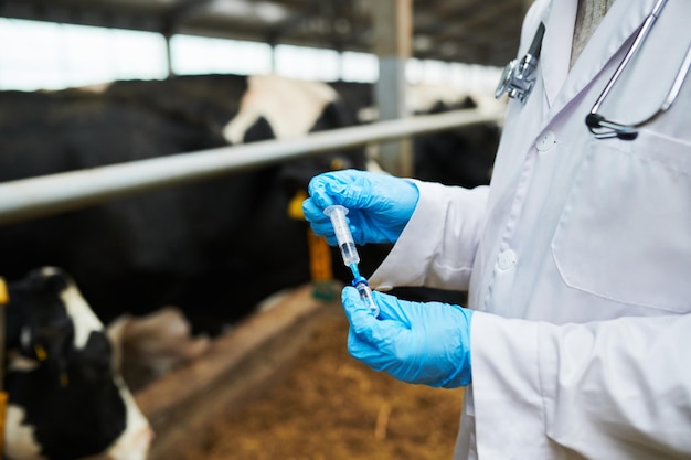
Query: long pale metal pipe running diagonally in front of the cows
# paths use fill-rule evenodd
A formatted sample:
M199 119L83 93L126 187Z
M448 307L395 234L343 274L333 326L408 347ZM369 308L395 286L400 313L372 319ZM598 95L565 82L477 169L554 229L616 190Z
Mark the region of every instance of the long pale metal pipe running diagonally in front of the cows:
M9 181L0 183L0 225L326 151L497 120L497 114L456 110Z

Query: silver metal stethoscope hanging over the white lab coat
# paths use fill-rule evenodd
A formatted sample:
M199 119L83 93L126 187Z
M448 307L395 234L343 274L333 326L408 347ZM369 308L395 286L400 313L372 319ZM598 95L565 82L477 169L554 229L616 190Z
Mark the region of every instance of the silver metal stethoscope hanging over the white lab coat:
M636 53L640 50L642 43L646 41L652 25L660 15L662 8L667 0L658 0L656 6L652 8L652 11L646 18L644 24L638 30L636 38L631 44L631 47L626 52L624 60L615 71L609 82L603 89L602 94L593 105L591 113L585 117L585 124L588 127L588 130L593 133L596 139L609 139L609 138L619 138L621 140L634 140L638 136L638 128L650 124L656 120L660 115L665 114L669 110L672 104L679 97L679 93L681 90L681 86L683 85L687 75L689 74L689 68L691 68L691 45L689 45L687 50L687 54L677 72L677 76L674 77L674 82L670 87L667 97L662 101L662 105L649 117L645 118L641 121L634 124L621 124L618 121L614 121L607 119L605 116L598 114L600 106L612 93L612 89L619 81L619 77L624 73L624 69L628 65L628 63L636 56ZM507 93L509 97L520 100L522 104L525 104L528 97L530 96L534 83L535 76L533 75L535 68L538 66L538 60L540 57L540 50L542 47L542 38L544 35L544 24L540 23L538 31L535 32L535 38L528 50L528 53L520 63L517 60L511 61L503 71L501 79L499 81L499 85L497 86L497 90L495 92L495 97L499 98L501 95Z

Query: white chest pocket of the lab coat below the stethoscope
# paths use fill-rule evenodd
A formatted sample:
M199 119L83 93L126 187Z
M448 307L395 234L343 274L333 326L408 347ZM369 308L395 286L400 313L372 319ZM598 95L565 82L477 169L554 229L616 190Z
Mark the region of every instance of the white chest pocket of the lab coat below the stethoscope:
M615 302L691 311L691 145L594 140L552 240L563 281Z

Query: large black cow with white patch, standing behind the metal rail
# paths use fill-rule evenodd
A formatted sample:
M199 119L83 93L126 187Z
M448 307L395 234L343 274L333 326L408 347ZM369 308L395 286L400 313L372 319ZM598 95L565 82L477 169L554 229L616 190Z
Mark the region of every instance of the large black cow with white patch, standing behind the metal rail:
M272 76L118 82L0 93L0 181L352 125L327 85ZM337 152L0 227L0 274L71 272L99 318L178 306L220 332L268 295L309 279L307 224L287 207Z

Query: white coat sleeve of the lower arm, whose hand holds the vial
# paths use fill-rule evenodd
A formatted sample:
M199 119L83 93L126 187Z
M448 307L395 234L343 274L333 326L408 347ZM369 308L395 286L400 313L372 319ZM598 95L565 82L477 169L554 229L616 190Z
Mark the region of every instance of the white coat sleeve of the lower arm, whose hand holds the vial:
M480 459L691 458L691 314L471 328Z

